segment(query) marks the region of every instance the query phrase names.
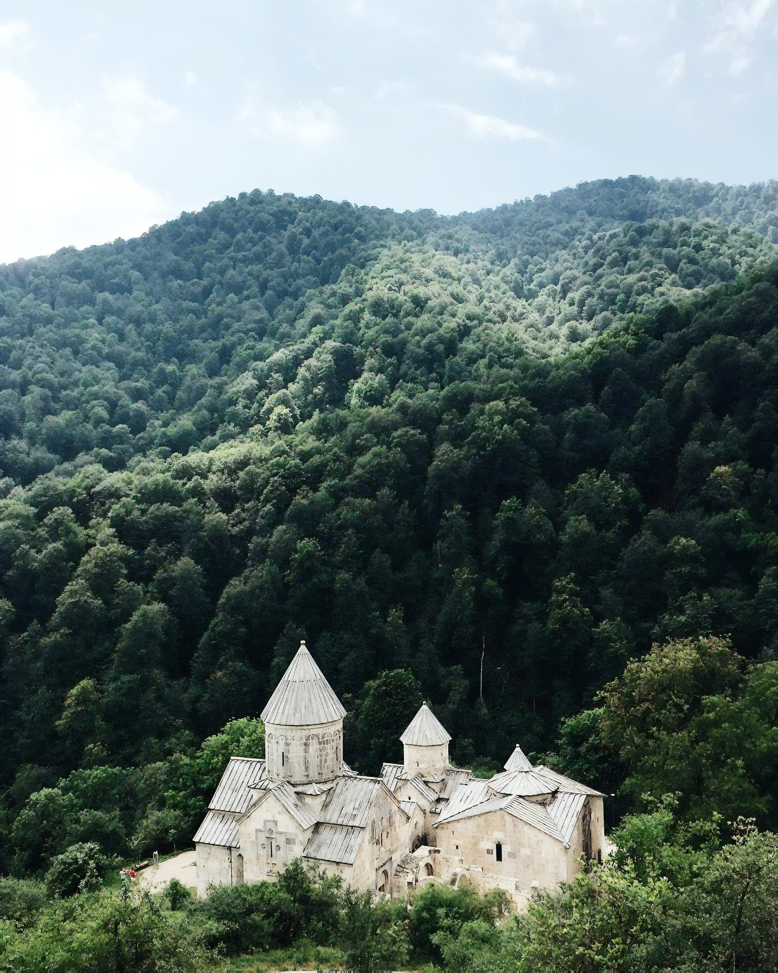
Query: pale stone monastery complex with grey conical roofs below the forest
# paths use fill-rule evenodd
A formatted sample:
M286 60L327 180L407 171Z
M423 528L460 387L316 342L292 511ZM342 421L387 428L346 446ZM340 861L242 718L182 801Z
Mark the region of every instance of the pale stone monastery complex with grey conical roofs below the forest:
M262 712L265 759L232 757L195 834L197 894L272 881L295 858L345 883L412 896L426 882L500 887L521 908L605 848L603 795L516 745L505 773L448 762L426 703L379 777L343 762L345 710L305 643Z

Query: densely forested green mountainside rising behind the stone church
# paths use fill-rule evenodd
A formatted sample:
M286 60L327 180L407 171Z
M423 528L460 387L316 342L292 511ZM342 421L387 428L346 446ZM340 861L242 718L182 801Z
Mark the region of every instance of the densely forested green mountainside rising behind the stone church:
M188 841L301 637L365 772L423 697L774 826L775 240L775 183L255 191L0 269L3 867Z

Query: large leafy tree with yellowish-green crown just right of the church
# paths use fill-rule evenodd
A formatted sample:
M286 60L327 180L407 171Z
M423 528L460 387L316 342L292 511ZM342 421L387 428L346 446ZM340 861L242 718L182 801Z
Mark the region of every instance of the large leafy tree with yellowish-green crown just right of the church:
M745 675L722 638L656 646L602 693L599 738L619 755L639 803L679 791L690 817L738 811L772 820L775 663Z

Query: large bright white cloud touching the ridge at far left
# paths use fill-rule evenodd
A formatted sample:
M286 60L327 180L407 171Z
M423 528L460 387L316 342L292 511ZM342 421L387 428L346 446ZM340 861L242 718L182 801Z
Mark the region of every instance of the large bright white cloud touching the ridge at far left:
M89 154L72 120L0 72L0 261L143 233L174 215L128 172Z

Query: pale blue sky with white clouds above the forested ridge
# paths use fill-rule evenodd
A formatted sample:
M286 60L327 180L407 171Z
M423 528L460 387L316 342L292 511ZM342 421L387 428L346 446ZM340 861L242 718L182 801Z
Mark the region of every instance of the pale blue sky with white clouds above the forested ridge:
M0 261L255 187L441 213L778 175L778 0L0 0Z

